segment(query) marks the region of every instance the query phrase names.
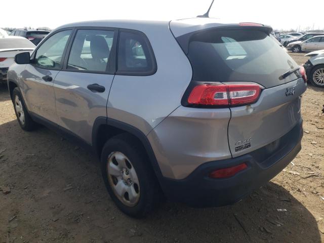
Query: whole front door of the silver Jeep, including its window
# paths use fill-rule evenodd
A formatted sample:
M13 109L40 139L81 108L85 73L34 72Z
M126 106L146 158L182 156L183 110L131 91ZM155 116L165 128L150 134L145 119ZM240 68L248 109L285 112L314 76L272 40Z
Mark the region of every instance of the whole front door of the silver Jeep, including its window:
M50 36L33 54L22 73L28 110L57 123L53 81L62 68L62 56L72 30Z

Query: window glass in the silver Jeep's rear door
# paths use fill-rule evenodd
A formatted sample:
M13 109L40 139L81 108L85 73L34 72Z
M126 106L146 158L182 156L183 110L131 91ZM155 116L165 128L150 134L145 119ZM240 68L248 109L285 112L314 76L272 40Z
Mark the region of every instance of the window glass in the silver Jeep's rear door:
M78 30L76 32L67 69L104 72L109 70L112 30Z

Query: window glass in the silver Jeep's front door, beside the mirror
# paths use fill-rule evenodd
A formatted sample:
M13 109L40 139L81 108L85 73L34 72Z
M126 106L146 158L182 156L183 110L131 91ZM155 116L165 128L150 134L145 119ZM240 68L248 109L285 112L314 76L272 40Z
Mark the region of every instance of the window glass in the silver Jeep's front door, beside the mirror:
M49 37L36 51L34 63L46 68L61 68L62 56L72 30L60 31Z

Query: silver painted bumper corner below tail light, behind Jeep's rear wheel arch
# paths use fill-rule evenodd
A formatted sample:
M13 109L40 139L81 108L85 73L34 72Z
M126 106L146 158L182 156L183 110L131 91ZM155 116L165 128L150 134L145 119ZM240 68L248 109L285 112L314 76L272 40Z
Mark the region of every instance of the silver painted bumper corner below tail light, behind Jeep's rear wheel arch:
M229 108L180 106L147 136L165 177L184 179L208 161L231 157L227 141Z

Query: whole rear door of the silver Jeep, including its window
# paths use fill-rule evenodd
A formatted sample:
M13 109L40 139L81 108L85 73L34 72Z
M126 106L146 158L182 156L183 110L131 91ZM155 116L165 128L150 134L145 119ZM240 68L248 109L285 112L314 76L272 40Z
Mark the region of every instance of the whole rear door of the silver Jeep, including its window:
M66 55L64 70L54 81L58 125L88 144L106 106L115 72L117 30L78 28Z

